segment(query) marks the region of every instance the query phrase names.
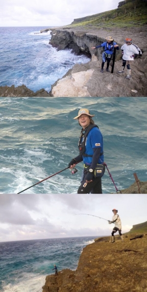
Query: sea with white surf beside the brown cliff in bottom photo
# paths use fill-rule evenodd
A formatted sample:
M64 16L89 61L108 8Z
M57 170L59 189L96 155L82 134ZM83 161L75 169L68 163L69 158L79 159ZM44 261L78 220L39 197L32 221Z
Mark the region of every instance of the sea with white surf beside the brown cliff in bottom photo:
M83 247L98 236L0 242L0 291L42 292L47 275L75 270Z

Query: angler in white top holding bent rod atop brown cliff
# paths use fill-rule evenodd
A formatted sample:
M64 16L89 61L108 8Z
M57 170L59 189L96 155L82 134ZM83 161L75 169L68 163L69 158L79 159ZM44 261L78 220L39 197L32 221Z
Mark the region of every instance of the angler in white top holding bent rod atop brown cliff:
M118 210L116 209L113 209L112 210L114 216L112 217L112 221L108 220L109 224L112 224L114 223L115 224L115 227L113 228L112 230L112 233L111 233L111 241L110 242L115 242L115 238L114 238L114 234L118 231L120 236L121 236L121 239L122 241L123 240L123 235L122 235L122 222L121 222L121 219L120 219L120 216L117 214L118 213Z

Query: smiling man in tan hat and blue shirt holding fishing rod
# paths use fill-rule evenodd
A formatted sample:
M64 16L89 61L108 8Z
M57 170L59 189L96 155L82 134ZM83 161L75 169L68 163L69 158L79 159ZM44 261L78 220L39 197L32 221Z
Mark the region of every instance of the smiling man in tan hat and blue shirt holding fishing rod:
M78 116L74 117L78 120L82 130L78 141L79 155L70 161L69 166L72 169L76 162L84 162L78 194L89 194L90 192L102 194L101 176L105 172L103 139L98 126L92 119L94 116L90 114L88 109L81 109Z

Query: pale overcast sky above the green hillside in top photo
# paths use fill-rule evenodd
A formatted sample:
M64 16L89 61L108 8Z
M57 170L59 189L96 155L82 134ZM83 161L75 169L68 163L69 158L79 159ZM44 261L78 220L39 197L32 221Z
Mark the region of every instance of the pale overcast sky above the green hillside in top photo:
M73 19L116 9L119 0L4 0L0 27L69 25Z

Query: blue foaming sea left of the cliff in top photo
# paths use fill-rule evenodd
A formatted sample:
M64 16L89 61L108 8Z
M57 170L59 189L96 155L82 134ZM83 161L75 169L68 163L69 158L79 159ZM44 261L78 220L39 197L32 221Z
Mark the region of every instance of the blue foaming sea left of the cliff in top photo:
M72 50L58 51L49 44L44 27L0 27L0 86L25 85L36 92L62 78L76 63L90 59Z

